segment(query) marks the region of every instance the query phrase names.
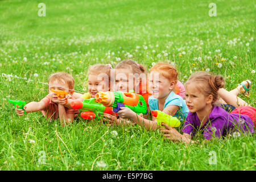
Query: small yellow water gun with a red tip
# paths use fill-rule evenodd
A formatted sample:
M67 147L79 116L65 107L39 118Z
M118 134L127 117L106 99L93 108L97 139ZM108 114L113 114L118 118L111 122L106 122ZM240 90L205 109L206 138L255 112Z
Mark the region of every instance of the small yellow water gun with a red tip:
M160 110L151 110L151 114L156 118L156 121L158 122L159 126L161 126L161 123L166 123L166 125L171 127L180 126L179 119L177 119L176 117L172 117L172 115L166 114Z

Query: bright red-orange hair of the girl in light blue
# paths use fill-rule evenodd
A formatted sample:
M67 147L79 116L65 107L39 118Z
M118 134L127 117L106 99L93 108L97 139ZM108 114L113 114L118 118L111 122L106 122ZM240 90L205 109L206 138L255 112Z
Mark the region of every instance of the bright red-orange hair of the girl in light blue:
M156 63L151 69L150 72L155 71L159 72L161 75L166 77L170 81L174 81L174 84L177 84L177 70L168 63Z

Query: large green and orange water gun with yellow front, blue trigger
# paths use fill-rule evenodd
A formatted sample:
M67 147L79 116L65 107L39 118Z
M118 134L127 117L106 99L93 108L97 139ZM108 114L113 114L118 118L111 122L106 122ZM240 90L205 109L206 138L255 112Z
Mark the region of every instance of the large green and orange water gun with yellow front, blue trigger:
M106 107L113 107L113 111L117 113L120 107L129 107L137 114L147 114L147 105L144 98L135 93L126 92L98 92L95 95L96 102Z

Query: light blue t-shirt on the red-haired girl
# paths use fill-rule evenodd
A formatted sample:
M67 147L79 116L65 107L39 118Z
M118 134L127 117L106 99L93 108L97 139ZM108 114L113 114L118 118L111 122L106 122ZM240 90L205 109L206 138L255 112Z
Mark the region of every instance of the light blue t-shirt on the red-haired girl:
M159 110L158 99L154 98L153 96L150 96L150 98L148 98L148 105L150 106L150 110ZM181 98L174 92L171 92L169 96L166 98L166 102L164 103L164 108L171 105L179 106L180 108L174 114L174 117L178 118L180 121L185 120L189 112L188 107L185 103L185 100L183 100L183 98Z

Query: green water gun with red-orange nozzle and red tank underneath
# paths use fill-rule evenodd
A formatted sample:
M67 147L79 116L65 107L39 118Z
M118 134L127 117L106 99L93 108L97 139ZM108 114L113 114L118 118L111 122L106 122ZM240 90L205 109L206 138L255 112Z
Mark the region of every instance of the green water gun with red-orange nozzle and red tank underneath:
M70 105L73 109L82 110L81 117L88 120L100 118L104 113L112 114L112 107L105 107L97 103L95 98L84 99L82 102L75 100Z

